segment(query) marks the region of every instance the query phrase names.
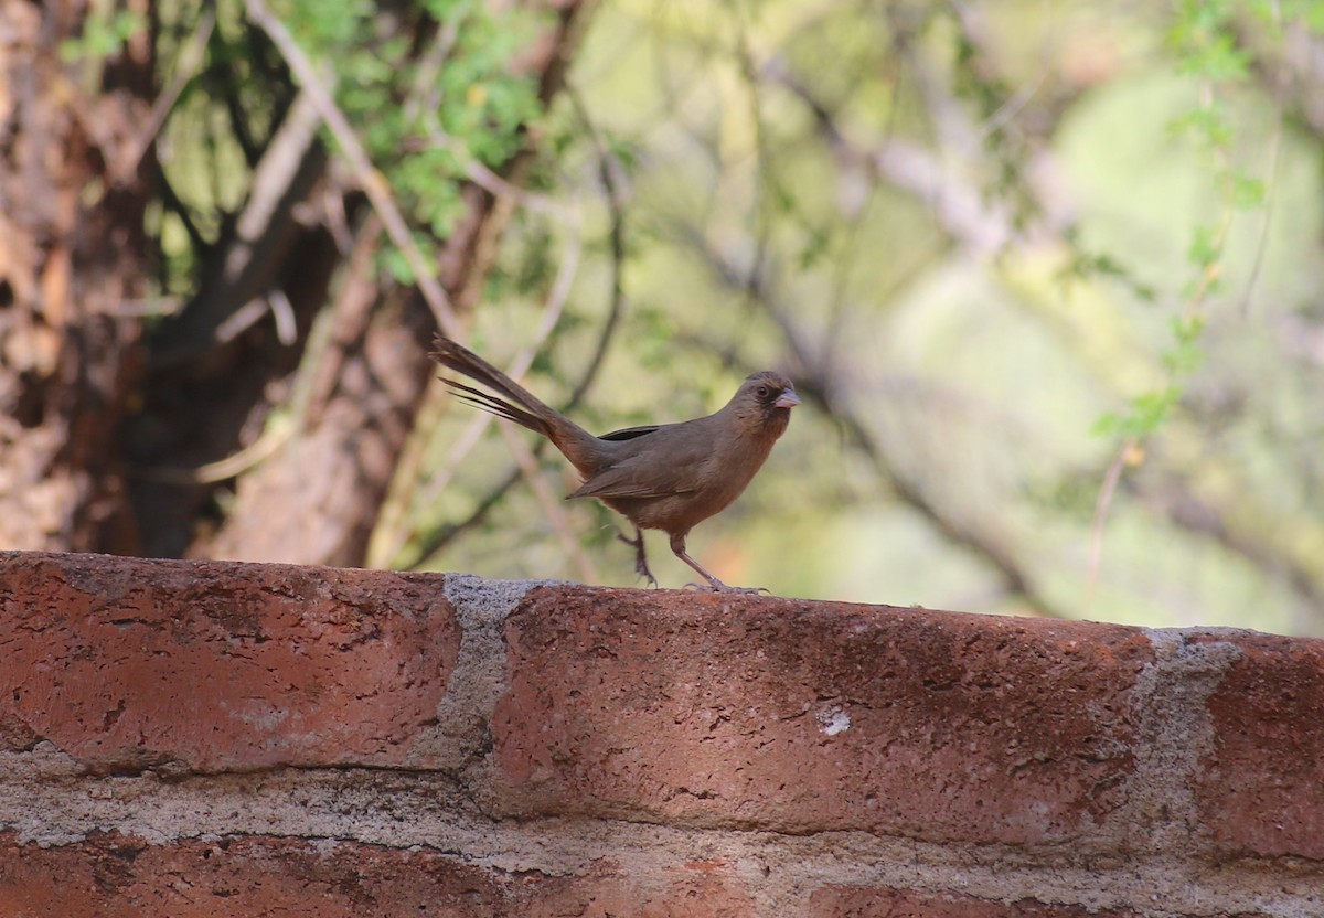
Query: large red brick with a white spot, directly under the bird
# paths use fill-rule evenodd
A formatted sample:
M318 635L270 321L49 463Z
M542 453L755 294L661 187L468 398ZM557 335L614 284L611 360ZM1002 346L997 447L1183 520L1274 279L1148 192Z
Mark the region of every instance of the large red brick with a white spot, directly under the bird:
M1113 625L580 588L507 641L512 813L1012 844L1123 803L1152 661Z

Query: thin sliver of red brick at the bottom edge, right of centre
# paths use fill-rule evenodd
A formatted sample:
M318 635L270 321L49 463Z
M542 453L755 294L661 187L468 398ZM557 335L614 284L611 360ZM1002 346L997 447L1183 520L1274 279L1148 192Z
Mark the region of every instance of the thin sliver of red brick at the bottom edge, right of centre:
M969 895L876 886L828 886L809 899L814 918L1131 918L1140 913L1088 911L1084 906L1035 899L990 902Z

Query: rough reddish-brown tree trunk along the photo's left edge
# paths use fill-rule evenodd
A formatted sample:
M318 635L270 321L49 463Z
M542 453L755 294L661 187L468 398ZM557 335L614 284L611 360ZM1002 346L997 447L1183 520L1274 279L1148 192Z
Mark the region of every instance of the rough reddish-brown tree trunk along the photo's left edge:
M0 546L132 552L115 437L140 363L151 44L66 65L83 15L0 4Z

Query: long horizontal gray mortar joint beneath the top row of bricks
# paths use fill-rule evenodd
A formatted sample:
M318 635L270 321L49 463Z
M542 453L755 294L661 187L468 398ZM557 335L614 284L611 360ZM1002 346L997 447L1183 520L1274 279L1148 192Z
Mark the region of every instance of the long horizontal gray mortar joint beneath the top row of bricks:
M757 914L809 918L824 885L895 886L1014 902L1132 909L1155 918L1258 914L1317 918L1313 876L1233 869L1218 876L1180 856L1140 857L1119 868L1045 865L1033 849L924 844L865 832L784 836L686 829L620 820L493 821L463 805L440 775L389 770L278 770L164 782L82 778L49 743L0 755L0 824L20 842L62 845L97 831L150 844L234 836L303 839L334 856L334 844L425 848L474 866L548 876L583 873L594 861L642 886L677 877L677 865L724 862L753 895ZM54 783L54 776L62 780ZM1295 888L1294 888L1295 884Z

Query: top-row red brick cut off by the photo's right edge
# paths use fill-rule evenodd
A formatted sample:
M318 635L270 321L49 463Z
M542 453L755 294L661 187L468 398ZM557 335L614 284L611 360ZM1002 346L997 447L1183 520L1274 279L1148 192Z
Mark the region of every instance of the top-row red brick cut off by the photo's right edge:
M1242 656L1209 698L1202 819L1226 853L1324 860L1324 641L1247 633L1235 642Z

